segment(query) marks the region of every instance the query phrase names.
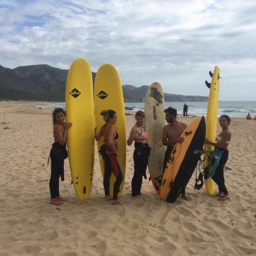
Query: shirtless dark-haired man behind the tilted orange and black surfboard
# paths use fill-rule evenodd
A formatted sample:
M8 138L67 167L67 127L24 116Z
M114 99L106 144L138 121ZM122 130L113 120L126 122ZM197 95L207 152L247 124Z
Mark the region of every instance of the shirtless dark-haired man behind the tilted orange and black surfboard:
M165 113L165 120L167 121L168 124L163 127L163 135L162 135L162 143L163 145L167 146L166 152L164 155L163 173L167 164L167 160L170 156L170 153L172 153L175 144L182 143L184 141L184 138L180 136L187 127L185 123L177 121L176 109L173 109L169 106L168 109L164 110L164 113ZM188 199L185 196L185 187L182 189L181 197L188 201Z

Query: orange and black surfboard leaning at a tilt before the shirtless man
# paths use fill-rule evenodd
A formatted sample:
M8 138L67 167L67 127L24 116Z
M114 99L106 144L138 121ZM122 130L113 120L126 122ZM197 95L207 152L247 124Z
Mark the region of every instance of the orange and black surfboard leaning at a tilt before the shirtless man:
M161 183L160 199L167 199L170 190L174 189L172 192L174 195L171 194L169 201L176 200L178 193L180 193L179 189L186 186L193 174L201 156L196 153L198 153L198 150L202 150L205 138L204 117L198 117L191 122L180 137L183 137L184 141L175 144L167 160ZM177 194L175 194L176 192Z

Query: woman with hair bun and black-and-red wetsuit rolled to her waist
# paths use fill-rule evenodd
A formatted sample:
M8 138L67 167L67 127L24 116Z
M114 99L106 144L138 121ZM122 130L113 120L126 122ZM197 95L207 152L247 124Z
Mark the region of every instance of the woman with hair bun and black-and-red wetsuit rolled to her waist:
M105 191L105 199L113 200L112 204L121 205L117 196L118 196L120 185L123 180L123 174L117 161L117 155L118 155L117 139L119 135L115 131L113 126L117 121L117 114L114 110L102 110L100 115L103 116L105 124L101 126L98 135L95 128L95 139L98 141L102 136L104 138L104 143L100 147L99 153L101 154L104 160L103 186ZM113 198L110 196L110 177L112 173L116 177L116 181L114 183L114 189L113 189Z

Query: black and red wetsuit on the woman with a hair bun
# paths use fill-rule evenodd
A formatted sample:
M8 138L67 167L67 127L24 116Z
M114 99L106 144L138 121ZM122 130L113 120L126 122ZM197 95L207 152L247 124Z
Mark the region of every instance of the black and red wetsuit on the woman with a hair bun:
M119 137L118 133L116 132L114 139L116 140L118 139L118 137ZM114 183L114 189L113 189L113 199L117 199L119 188L123 181L123 174L117 162L116 154L113 152L110 146L106 146L105 144L103 144L100 147L99 153L101 154L104 160L103 186L104 186L105 196L110 195L110 177L111 177L111 174L113 173L116 176L116 181Z

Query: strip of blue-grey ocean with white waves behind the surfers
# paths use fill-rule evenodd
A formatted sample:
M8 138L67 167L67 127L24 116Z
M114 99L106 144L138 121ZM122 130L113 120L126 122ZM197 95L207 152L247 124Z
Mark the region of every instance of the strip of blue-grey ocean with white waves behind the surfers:
M182 114L184 103L188 105L188 115L206 116L208 102L165 102L165 105L166 108L172 106L178 114ZM124 106L134 111L144 110L144 102L124 102ZM36 107L39 108L39 105ZM41 105L41 108L65 108L65 102L49 103ZM218 116L226 114L230 117L246 117L248 113L251 117L256 115L256 101L219 101Z

